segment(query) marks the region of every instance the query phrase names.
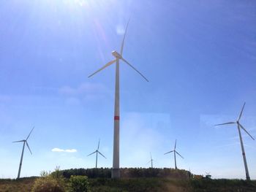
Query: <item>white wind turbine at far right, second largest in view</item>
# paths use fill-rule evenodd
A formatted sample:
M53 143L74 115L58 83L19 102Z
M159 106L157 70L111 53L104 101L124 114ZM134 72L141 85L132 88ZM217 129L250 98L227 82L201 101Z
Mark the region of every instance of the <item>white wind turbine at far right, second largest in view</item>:
M244 105L245 105L245 102L244 102ZM242 155L243 155L243 158L244 158L244 168L245 168L245 174L246 174L246 180L250 180L250 177L249 177L249 171L248 171L248 167L247 167L247 162L246 162L246 156L245 156L245 151L244 151L244 144L243 144L243 139L241 137L241 129L243 129L246 134L249 134L248 131L246 131L246 129L244 128L244 126L241 125L241 123L239 122L239 120L241 119L241 116L243 114L243 111L244 111L244 106L240 112L240 115L238 116L238 119L234 122L227 122L227 123L221 123L221 124L217 124L217 125L214 125L214 126L222 126L222 125L229 125L229 124L237 124L237 128L238 128L238 134L239 134L239 138L240 138L240 143L241 143L241 150L242 150ZM253 140L255 140L252 135L249 134L249 137L251 137Z

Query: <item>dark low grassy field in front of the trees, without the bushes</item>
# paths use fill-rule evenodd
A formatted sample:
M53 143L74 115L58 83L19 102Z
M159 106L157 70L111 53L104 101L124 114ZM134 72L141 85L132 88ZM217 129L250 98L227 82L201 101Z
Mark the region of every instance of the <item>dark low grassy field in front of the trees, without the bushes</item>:
M48 173L47 173L48 174ZM0 179L0 191L28 192L38 177L19 180ZM91 191L186 191L186 192L255 192L256 180L183 180L166 177L136 177L113 180L89 178ZM68 183L68 180L66 180ZM45 191L46 192L46 191Z

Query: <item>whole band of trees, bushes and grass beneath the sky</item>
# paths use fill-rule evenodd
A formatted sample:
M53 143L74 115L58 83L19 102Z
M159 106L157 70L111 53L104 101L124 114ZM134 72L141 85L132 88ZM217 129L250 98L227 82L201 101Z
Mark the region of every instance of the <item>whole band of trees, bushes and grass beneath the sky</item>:
M86 177L84 173L89 173ZM119 180L110 178L110 169L69 169L42 172L41 177L0 180L1 191L184 191L253 192L256 181L192 179L187 171L175 169L121 169ZM154 175L154 177L152 177ZM105 177L107 176L107 177ZM186 177L185 177L186 176Z

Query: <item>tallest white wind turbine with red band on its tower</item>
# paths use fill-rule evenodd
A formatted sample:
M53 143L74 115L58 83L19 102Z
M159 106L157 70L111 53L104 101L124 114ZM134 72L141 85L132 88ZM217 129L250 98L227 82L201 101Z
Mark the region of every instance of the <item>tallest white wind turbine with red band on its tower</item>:
M105 64L105 66L102 66L102 68L98 69L93 74L89 75L89 77L93 76L94 74L97 74L97 72L102 71L106 67L110 66L111 64L114 64L116 62L116 88L115 88L115 110L114 110L114 138L113 138L113 169L111 172L112 178L119 178L120 177L120 169L119 169L119 120L120 120L120 112L119 112L119 61L124 61L125 64L132 67L138 74L140 74L146 81L146 77L143 76L137 69L135 69L134 66L128 63L127 60L123 58L123 50L124 50L124 39L127 34L127 28L128 28L129 21L127 23L127 27L124 32L124 38L121 43L121 50L120 53L118 53L116 50L112 51L112 55L115 57L112 61L109 61L108 64Z

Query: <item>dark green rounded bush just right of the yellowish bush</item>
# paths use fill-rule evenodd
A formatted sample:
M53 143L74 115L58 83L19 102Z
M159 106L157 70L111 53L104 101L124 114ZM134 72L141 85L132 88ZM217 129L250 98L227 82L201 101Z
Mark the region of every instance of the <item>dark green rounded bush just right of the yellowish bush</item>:
M89 191L88 177L81 175L71 175L69 179L70 192L86 192Z

